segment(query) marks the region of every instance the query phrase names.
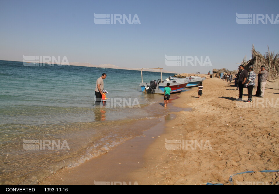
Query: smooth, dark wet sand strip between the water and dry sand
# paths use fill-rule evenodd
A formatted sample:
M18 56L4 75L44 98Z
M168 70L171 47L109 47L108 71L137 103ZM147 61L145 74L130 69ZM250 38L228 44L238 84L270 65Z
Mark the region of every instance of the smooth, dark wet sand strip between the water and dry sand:
M173 95L171 101L179 98L179 94ZM161 104L158 102L158 104ZM164 109L164 107L162 107ZM169 104L169 113L160 118L151 119L154 126L150 125L142 135L126 140L125 142L113 147L108 152L91 158L84 163L60 169L48 178L45 178L39 185L93 185L96 182L132 182L129 174L144 165L143 155L148 145L164 133L164 123L172 120L172 111L186 110L173 107ZM149 122L149 121L148 121ZM136 125L137 131L139 125ZM145 125L142 125L144 127ZM112 162L113 161L113 162ZM117 162L115 162L117 161ZM119 175L120 174L120 175ZM137 182L137 181L134 181ZM124 184L125 184L124 183Z

